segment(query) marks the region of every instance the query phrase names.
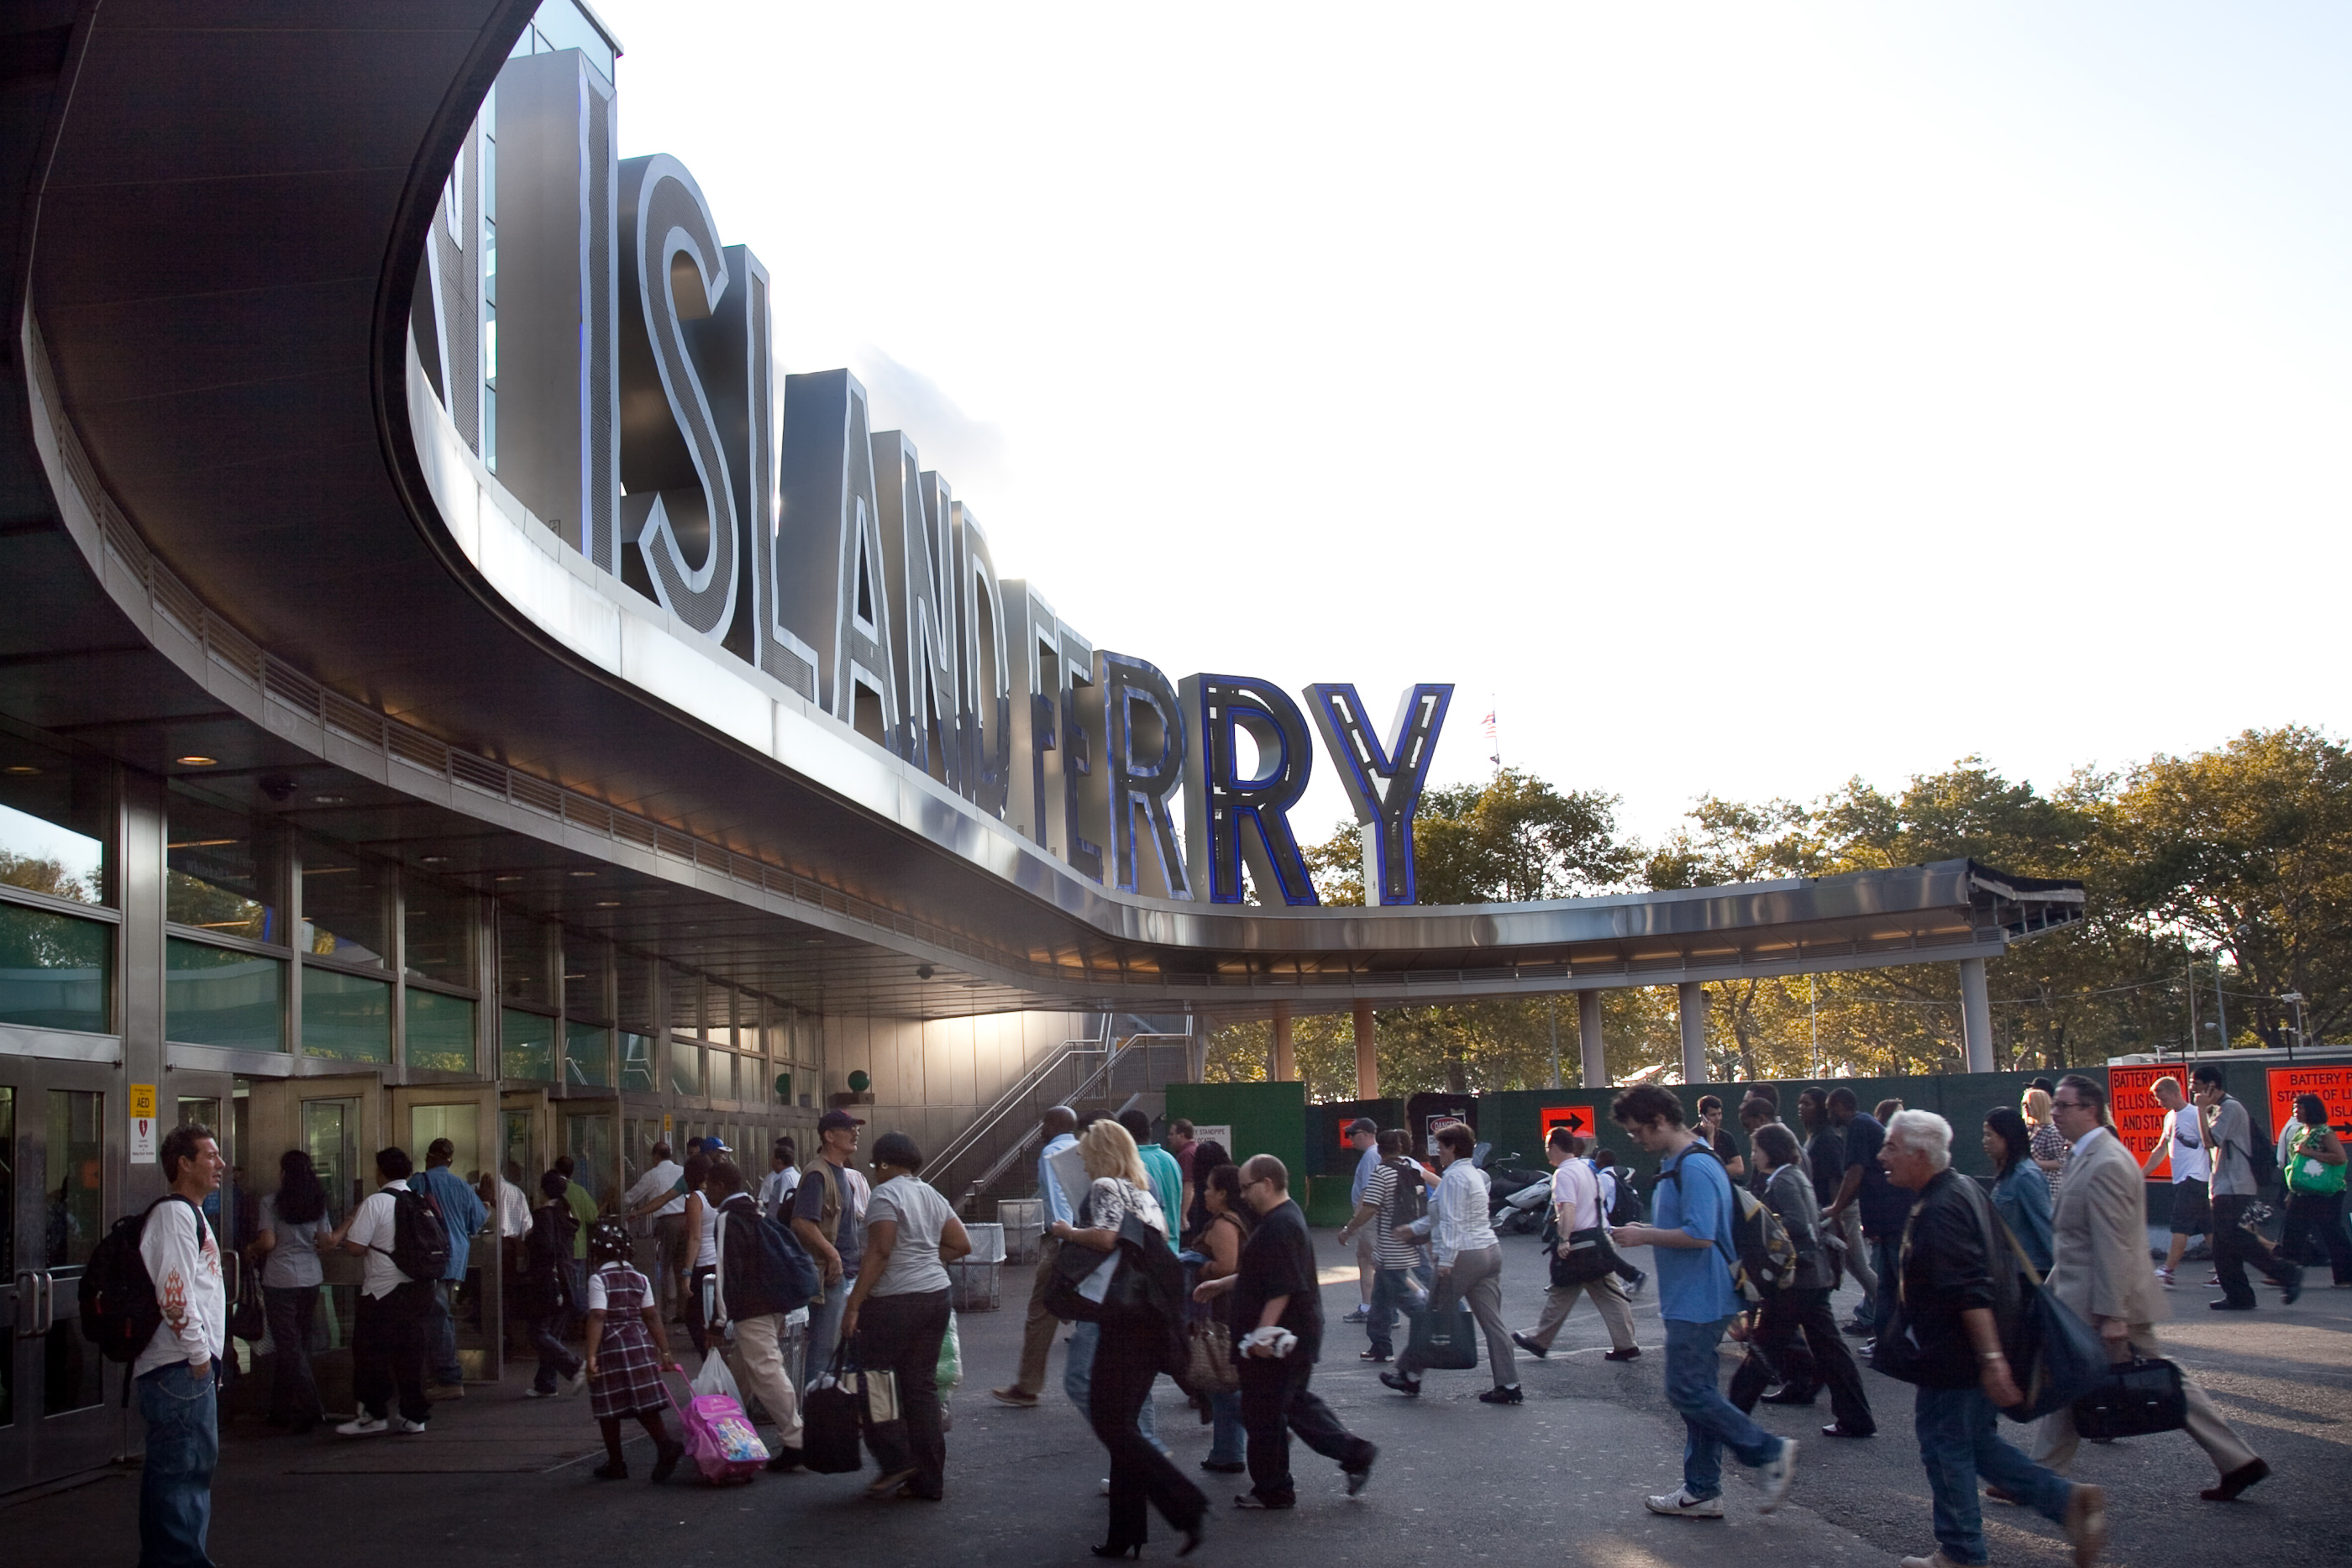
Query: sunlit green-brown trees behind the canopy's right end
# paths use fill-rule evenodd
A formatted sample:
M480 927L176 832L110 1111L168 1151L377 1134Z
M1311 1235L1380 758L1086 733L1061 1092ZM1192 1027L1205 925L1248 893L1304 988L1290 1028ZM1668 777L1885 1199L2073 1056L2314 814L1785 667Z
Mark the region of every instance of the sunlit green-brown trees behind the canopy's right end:
M1994 1060L2070 1067L2194 1037L2286 1044L2305 997L2314 1039L2352 1011L2352 755L2286 726L2126 773L2082 771L2056 790L2011 783L1980 757L1900 790L1860 778L1813 802L1703 797L1661 844L1621 839L1613 797L1526 773L1432 792L1418 830L1423 903L1566 898L1613 886L1724 886L1973 858L2023 877L2070 877L2086 919L1987 966ZM1362 903L1359 837L1343 825L1308 856L1327 903ZM2216 999L2216 990L2220 997ZM1724 1079L1957 1072L1952 964L1752 978L1708 987L1708 1051ZM2220 1006L2216 1006L2220 1001ZM1609 1072L1679 1070L1672 987L1602 992ZM1519 1088L1576 1081L1576 1006L1494 999L1378 1013L1381 1086ZM1232 1025L1211 1063L1265 1077L1268 1025ZM1319 1100L1355 1093L1345 1013L1298 1018L1301 1077Z

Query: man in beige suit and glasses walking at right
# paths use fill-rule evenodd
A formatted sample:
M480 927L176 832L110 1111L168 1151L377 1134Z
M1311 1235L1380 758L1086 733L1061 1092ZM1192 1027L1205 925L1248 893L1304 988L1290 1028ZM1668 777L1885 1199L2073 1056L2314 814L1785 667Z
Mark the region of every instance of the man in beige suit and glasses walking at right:
M2140 1161L2107 1126L2107 1091L2082 1077L2058 1079L2051 1095L2051 1119L2074 1145L2065 1180L2058 1185L2058 1211L2051 1220L2049 1288L2074 1314L2091 1324L2117 1361L2161 1356L2157 1319L2166 1316L2164 1291L2147 1267L2147 1190ZM2270 1465L2230 1429L2206 1392L2185 1371L2187 1429L2220 1472L2220 1486L2199 1493L2206 1502L2230 1502L2270 1474ZM2056 1410L2042 1418L2034 1434L2034 1462L2065 1474L2074 1462L2074 1413Z

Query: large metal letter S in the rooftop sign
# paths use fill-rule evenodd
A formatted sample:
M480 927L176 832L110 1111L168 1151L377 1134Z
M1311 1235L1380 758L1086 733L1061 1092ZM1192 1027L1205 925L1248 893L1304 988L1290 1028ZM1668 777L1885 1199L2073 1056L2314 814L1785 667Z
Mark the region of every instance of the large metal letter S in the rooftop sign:
M623 571L684 625L734 618L736 510L717 418L687 353L687 322L727 292L720 230L687 167L666 153L621 165L621 543ZM635 552L630 562L628 555Z

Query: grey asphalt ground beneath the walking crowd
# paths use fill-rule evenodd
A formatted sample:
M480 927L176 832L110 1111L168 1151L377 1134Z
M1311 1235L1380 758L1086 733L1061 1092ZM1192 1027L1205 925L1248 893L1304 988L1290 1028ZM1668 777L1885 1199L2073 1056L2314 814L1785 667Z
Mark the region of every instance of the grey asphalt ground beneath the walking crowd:
M1324 1305L1355 1302L1350 1258L1329 1232ZM1505 1239L1505 1307L1534 1326L1543 1260L1534 1239ZM2110 1563L2169 1568L2237 1561L2345 1561L2352 1554L2352 1291L2324 1272L2296 1307L2263 1288L2256 1314L2209 1314L2204 1265L2183 1267L2171 1354L2187 1366L2274 1476L2241 1502L2199 1502L2213 1469L2173 1432L2084 1446L2077 1476L2110 1490ZM1101 1446L1061 1399L1061 1349L1035 1410L988 1399L1018 1361L1028 1269L1007 1267L1004 1309L960 1316L964 1387L953 1399L948 1500L866 1502L868 1476L760 1476L710 1488L691 1465L668 1486L590 1479L602 1446L586 1401L524 1401L517 1368L503 1387L475 1385L437 1406L414 1439L280 1436L238 1422L223 1436L212 1554L223 1568L296 1556L336 1568L421 1568L520 1561L771 1563L802 1554L844 1563L1075 1563L1103 1537ZM1849 1288L1842 1307L1856 1293ZM1336 1467L1296 1448L1301 1507L1235 1514L1230 1476L1195 1469L1209 1429L1171 1385L1157 1418L1178 1465L1216 1502L1195 1561L1312 1563L1569 1561L1602 1568L1842 1568L1931 1552L1926 1479L1910 1441L1910 1389L1865 1373L1882 1436L1823 1441L1828 1406L1759 1408L1766 1427L1804 1441L1790 1500L1755 1512L1748 1472L1726 1465L1729 1519L1675 1521L1642 1509L1644 1493L1679 1481L1682 1422L1665 1406L1663 1328L1653 1293L1635 1302L1644 1356L1606 1363L1606 1335L1578 1307L1552 1356L1519 1359L1524 1406L1484 1406L1475 1373L1430 1373L1416 1401L1390 1394L1357 1361L1362 1331L1331 1324L1315 1387L1355 1432L1381 1446L1362 1497ZM1726 1356L1724 1375L1731 1361ZM2006 1427L2018 1439L2023 1429ZM1211 1486L1216 1483L1216 1486ZM2056 1528L1987 1505L1997 1563L2067 1563ZM1169 1533L1148 1556L1169 1556ZM0 1507L19 1561L136 1561L136 1474L108 1472Z

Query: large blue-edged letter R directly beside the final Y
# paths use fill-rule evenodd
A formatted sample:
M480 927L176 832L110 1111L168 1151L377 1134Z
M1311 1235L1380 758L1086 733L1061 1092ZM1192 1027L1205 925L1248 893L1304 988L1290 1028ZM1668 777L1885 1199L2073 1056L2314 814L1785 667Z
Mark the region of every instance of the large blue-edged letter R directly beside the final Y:
M1315 741L1298 703L1249 675L1188 675L1183 710L1197 724L1183 776L1192 886L1207 886L1209 903L1242 903L1247 856L1263 903L1275 893L1291 907L1317 903L1289 816L1315 769ZM1240 776L1235 731L1258 748L1256 778Z

